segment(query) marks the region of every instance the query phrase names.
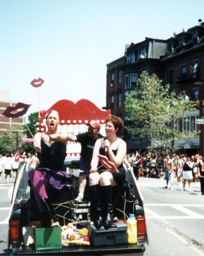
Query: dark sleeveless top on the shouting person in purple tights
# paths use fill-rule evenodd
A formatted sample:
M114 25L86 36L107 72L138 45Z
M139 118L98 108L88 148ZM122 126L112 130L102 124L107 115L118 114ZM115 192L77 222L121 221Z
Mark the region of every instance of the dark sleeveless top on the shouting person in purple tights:
M66 157L67 145L55 141L49 147L44 140L41 140L41 152L38 152L40 161L38 168L49 168L52 170L66 170L64 159Z

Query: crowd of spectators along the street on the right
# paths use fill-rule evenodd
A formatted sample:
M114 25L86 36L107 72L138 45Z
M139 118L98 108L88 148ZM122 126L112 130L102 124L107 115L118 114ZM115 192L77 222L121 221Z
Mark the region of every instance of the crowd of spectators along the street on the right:
M166 180L164 188L173 189L173 185L182 186L181 190L191 192L191 182L200 182L204 195L204 155L195 154L139 154L137 151L127 154L126 164L133 169L136 179L139 176L154 177ZM170 182L170 186L169 186Z

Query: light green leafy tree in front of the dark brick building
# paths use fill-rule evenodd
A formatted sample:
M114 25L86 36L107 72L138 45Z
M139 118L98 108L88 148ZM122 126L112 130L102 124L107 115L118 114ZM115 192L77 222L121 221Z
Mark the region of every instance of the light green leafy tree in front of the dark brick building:
M194 110L195 102L175 92L169 91L169 84L163 86L162 80L155 74L143 72L138 79L135 93L126 96L125 111L129 116L130 126L126 129L138 138L148 138L157 143L149 149L166 151L173 147L178 138L188 138L196 132L188 133L177 129L177 120L186 118ZM186 119L187 120L187 119Z

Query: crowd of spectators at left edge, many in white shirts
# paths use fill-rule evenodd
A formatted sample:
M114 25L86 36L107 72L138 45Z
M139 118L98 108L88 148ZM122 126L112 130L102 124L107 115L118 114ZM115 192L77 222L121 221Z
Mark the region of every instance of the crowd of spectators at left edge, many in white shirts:
M6 153L5 155L0 154L0 182L2 175L5 175L5 183L9 183L9 178L13 177L16 179L16 174L18 172L18 167L20 163L31 163L30 168L35 169L37 163L39 162L37 154L26 154L25 152L16 158L16 155L11 153Z

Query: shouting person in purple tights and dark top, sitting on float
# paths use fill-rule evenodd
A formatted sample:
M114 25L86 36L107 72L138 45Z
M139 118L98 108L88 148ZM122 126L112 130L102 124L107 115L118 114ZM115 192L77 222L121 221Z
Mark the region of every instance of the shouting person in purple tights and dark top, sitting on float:
M40 210L40 227L50 227L52 219L58 220L55 208L47 196L46 188L61 189L67 184L73 186L64 165L67 142L50 140L52 134L58 133L59 114L57 111L51 110L46 114L46 124L47 131L36 133L33 142L40 163L28 174Z

